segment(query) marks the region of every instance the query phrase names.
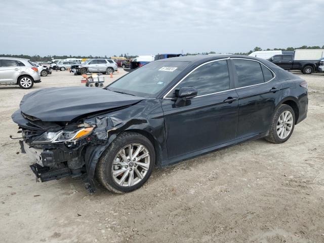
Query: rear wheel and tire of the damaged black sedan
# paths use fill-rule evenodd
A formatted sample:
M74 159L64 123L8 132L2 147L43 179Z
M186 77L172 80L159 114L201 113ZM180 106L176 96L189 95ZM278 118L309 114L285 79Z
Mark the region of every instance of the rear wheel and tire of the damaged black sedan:
M285 118L286 114L287 116ZM286 142L293 134L295 123L295 112L293 108L285 104L279 105L272 117L269 135L265 139L271 143Z

